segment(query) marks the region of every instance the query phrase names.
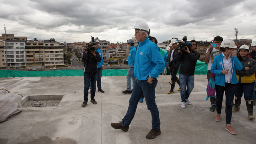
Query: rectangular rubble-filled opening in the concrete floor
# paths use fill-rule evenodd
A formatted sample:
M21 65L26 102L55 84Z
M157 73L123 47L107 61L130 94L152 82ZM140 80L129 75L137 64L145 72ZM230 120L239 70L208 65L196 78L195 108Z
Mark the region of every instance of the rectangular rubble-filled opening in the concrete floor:
M22 106L25 108L58 106L63 96L64 95L28 96L22 100Z

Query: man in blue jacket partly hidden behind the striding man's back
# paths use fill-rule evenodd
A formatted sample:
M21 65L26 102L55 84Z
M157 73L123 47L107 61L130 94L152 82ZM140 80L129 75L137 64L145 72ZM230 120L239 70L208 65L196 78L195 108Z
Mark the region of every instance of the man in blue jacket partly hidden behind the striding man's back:
M136 55L136 48L134 47L134 40L130 39L128 40L128 44L129 44L129 50L130 50L130 54L128 56L128 72L126 75L126 90L123 91L122 93L124 94L131 94L132 93L132 88L135 84L135 80L136 78L134 77L134 61L135 61L135 55ZM131 80L132 80L132 88L131 88Z

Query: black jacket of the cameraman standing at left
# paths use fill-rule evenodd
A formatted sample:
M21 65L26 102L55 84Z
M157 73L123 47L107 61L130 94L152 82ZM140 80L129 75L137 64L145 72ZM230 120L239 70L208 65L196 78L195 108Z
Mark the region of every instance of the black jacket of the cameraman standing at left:
M94 56L91 52L85 53L83 52L82 60L84 62L84 72L98 72L98 64L97 62L101 61L99 52L95 52L96 56Z

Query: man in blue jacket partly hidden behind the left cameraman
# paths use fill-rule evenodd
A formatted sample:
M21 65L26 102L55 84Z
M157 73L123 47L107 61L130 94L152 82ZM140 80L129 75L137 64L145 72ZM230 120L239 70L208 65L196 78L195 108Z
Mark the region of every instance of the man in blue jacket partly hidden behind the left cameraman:
M94 38L94 42L97 43L96 46L95 46L95 51L100 54L100 58L101 58L101 61L98 62L97 87L98 87L98 92L104 93L105 91L102 90L102 88L101 88L101 76L102 76L102 70L103 70L103 66L104 66L104 60L103 60L103 57L102 57L102 52L101 52L101 50L99 48L100 41L98 40L98 38ZM90 90L90 94L91 94L91 90Z

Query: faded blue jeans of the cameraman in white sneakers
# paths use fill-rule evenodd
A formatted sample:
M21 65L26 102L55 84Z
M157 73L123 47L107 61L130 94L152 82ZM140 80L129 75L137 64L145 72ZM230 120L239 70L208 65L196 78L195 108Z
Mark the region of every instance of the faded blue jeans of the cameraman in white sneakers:
M189 98L190 93L194 88L194 75L184 75L180 74L180 97L181 102L187 102L186 99Z

